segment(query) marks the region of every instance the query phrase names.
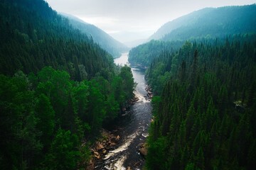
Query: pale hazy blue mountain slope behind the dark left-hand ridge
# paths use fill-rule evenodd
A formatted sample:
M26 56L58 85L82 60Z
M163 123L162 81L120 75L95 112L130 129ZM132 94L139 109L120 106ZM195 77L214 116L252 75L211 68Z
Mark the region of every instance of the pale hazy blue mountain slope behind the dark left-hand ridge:
M127 52L128 47L126 47L121 42L115 40L110 35L105 33L100 28L96 26L86 23L85 21L80 20L75 16L72 16L67 13L61 13L63 16L67 17L70 21L70 24L80 30L82 33L85 33L89 38L92 37L94 42L100 45L104 50L110 52L110 54L115 58L119 57L122 52Z

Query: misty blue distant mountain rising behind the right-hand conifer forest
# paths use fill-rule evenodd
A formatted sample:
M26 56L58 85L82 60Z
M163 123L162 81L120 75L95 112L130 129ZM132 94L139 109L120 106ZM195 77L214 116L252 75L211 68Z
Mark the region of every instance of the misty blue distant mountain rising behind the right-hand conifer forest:
M149 40L188 40L256 32L256 4L203 8L170 21Z

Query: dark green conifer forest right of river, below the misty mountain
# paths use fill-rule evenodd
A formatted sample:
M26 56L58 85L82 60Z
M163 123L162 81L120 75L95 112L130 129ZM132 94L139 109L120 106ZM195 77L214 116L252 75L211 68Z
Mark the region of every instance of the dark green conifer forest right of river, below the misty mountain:
M255 49L256 36L241 35L186 42L152 62L147 78L161 96L148 169L255 169Z

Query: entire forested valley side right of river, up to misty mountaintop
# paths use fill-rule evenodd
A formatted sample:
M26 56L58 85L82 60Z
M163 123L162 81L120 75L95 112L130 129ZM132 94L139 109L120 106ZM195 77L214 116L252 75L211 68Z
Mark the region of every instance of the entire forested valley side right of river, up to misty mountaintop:
M146 169L256 168L254 16L255 4L204 8L129 52L154 93Z

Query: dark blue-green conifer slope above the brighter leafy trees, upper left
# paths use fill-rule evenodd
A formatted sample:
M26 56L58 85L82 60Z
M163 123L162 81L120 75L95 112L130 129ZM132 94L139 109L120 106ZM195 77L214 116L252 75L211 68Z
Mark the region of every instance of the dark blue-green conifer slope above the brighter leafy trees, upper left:
M0 1L0 72L65 69L76 80L91 78L113 60L42 0Z

